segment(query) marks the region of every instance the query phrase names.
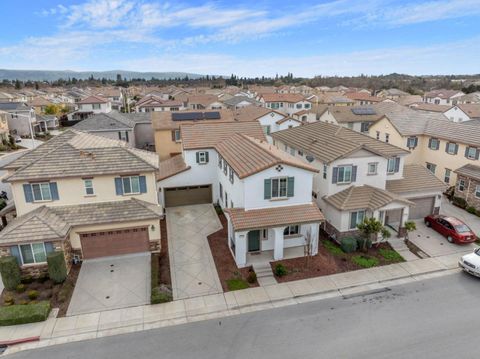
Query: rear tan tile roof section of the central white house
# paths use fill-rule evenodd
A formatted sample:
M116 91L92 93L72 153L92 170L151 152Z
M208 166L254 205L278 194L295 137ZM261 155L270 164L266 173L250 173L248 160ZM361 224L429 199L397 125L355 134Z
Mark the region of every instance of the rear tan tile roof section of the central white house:
M260 123L253 122L197 122L180 127L182 146L185 150L214 148L235 133L266 141Z

